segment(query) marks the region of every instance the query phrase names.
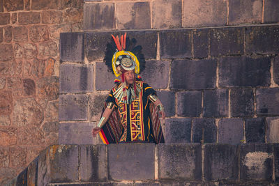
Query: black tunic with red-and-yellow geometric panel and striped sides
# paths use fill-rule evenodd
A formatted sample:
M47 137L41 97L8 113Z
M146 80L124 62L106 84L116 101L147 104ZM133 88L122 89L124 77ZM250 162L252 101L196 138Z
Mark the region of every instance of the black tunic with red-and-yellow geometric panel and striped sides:
M149 95L156 94L156 91L142 81L136 81L136 86L140 91L130 104L123 103L119 97L114 96L121 88L121 84L110 91L105 106L108 102L112 102L116 107L100 131L100 137L105 144L164 143L157 108L148 98ZM129 88L134 92L133 88Z

